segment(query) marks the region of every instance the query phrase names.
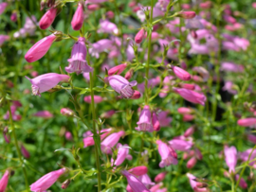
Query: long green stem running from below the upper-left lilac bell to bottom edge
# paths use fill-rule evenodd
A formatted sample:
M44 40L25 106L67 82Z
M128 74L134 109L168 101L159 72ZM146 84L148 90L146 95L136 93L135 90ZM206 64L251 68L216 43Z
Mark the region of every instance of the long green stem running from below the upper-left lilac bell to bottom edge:
M90 58L88 57L88 63L90 64ZM94 91L93 91L93 75L92 73L90 73L90 89L91 89L91 108L92 108L92 121L93 121L93 134L97 135L97 131L96 131L96 125L95 125L95 120L96 120L96 113L95 113L95 106L94 106ZM94 142L96 144L96 148L95 148L95 156L96 156L96 166L97 166L97 170L98 170L98 191L101 192L101 165L100 165L100 156L99 156L99 146L98 145L98 141L96 138L98 137L93 137L94 138ZM101 140L100 140L101 141Z

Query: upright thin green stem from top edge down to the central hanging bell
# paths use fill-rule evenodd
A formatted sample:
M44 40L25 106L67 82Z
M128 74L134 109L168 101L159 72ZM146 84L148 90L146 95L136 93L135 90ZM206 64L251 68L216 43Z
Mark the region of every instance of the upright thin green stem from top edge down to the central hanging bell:
M150 13L150 27L152 26L152 18L153 18L153 8L154 8L154 0L151 0L151 13ZM146 81L145 81L145 103L146 105L149 103L149 93L148 93L148 83L149 83L149 62L150 62L150 54L151 54L151 33L152 28L150 29L150 32L148 33L149 36L149 43L148 43L148 60L146 65Z

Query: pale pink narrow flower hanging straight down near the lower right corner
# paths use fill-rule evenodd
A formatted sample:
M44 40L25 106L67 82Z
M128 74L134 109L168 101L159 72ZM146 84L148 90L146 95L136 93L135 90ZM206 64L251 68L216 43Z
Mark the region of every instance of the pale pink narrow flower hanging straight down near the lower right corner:
M224 148L225 161L227 166L229 166L229 173L235 173L235 166L237 163L237 150L235 147L225 147Z

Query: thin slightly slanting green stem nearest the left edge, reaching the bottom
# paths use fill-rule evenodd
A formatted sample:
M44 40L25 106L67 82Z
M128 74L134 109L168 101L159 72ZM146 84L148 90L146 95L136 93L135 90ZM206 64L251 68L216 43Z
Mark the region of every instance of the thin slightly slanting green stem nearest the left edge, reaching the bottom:
M27 170L25 169L24 162L22 160L21 150L20 150L19 145L18 145L17 136L16 136L16 133L15 133L15 128L14 128L13 120L12 120L12 114L11 114L11 111L10 111L10 105L9 105L9 123L10 123L11 131L12 131L12 135L13 135L13 138L14 138L15 147L16 147L16 150L17 150L17 153L18 153L18 156L19 156L19 160L22 164L22 170L23 170L24 177L25 177L26 189L28 191Z

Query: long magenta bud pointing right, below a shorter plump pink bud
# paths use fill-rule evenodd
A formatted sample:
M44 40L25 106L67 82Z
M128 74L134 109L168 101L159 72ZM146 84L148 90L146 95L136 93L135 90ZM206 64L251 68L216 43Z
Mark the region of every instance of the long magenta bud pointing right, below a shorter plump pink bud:
M184 88L173 88L174 92L182 96L184 99L192 102L192 103L198 103L200 105L205 105L207 97L201 93L194 92L189 89Z

